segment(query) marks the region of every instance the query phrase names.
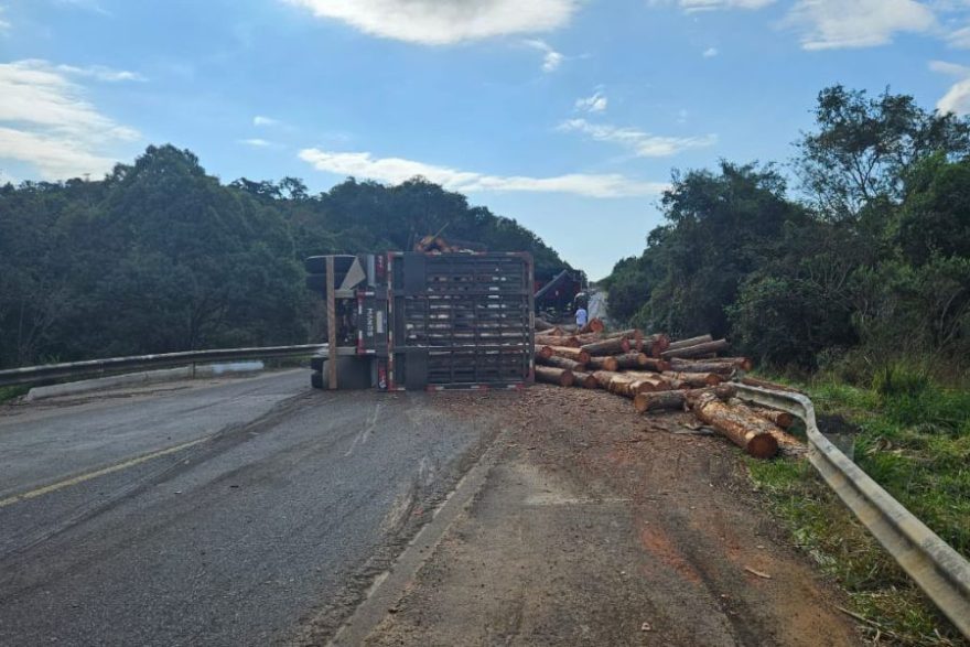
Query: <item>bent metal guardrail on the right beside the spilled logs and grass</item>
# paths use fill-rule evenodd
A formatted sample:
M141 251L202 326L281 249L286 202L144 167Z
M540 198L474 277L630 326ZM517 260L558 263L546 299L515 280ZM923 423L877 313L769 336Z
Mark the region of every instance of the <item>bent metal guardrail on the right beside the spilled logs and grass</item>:
M819 431L815 407L800 393L736 385L737 397L805 421L808 459L950 622L970 638L970 562L894 499Z

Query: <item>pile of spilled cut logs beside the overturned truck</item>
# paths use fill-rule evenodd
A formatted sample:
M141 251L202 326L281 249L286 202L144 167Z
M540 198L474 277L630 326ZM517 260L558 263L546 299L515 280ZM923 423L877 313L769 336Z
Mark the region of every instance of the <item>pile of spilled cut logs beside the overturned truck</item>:
M599 322L599 320L591 320ZM794 390L746 377L746 357L721 357L726 339L701 335L670 341L638 330L606 332L543 326L536 334L536 379L563 387L600 388L633 400L638 413L691 411L705 425L752 456L770 459L779 452L800 456L806 446L787 430L790 413L745 405L735 398L734 382ZM538 326L537 326L538 330Z

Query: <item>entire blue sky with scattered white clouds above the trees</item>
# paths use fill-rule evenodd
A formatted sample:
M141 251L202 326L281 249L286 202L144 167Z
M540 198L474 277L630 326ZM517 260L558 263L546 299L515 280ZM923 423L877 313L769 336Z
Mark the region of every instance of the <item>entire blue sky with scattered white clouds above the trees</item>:
M149 144L224 182L438 182L591 278L671 171L788 162L823 87L970 112L970 0L0 0L0 182Z

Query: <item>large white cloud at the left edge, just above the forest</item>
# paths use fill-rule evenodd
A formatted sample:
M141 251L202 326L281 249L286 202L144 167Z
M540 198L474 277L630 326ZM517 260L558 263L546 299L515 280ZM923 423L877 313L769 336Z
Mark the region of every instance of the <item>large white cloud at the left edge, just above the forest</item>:
M99 174L106 150L140 134L100 114L65 72L44 61L0 64L0 158L28 162L45 180Z

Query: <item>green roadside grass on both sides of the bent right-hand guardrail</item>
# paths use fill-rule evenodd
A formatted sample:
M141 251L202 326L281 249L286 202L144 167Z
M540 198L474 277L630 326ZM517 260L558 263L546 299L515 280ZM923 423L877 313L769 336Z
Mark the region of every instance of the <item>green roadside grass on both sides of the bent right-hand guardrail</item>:
M858 428L862 470L970 556L970 392L898 367L877 373L870 388L830 377L798 386L820 414ZM968 645L807 461L748 466L795 542L845 590L869 630L901 645Z

